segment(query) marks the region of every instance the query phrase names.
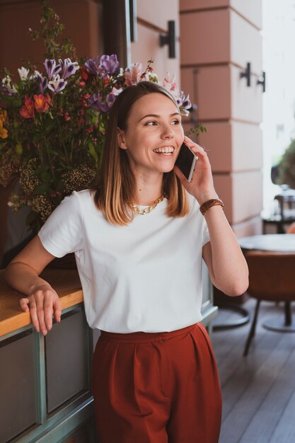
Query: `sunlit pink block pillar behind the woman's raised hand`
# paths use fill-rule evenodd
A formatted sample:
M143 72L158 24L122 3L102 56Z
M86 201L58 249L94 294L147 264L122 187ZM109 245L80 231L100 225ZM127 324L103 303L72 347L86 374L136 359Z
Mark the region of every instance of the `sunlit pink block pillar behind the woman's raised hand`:
M199 143L208 149L216 190L239 236L261 231L261 9L261 0L180 0L182 88L207 127ZM240 78L247 62L250 87Z

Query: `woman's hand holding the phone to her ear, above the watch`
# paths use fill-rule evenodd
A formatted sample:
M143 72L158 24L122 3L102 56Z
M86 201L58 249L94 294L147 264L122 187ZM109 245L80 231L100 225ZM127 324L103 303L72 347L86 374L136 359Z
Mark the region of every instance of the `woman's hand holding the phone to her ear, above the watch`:
M190 192L190 194L197 199L199 205L202 205L202 203L206 202L209 199L218 198L218 195L214 190L211 165L207 153L204 151L204 148L202 148L202 146L199 146L197 143L192 142L192 140L188 137L185 137L184 141L185 144L189 146L194 154L196 154L198 157L192 181L187 181L178 166L174 166L174 171L176 175L180 178L180 181L187 192Z

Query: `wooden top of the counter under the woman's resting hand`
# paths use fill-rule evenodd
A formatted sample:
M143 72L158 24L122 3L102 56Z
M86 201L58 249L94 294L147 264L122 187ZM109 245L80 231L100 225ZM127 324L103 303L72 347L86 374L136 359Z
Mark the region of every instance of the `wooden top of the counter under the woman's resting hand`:
M79 275L76 270L47 268L41 274L55 289L62 300L62 309L83 301ZM0 271L0 337L30 325L30 313L23 312L20 306L21 292L8 286L4 271Z

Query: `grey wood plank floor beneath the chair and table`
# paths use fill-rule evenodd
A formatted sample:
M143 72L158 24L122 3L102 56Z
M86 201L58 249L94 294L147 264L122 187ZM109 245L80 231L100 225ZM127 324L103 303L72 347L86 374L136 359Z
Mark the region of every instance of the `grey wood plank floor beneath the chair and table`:
M256 301L243 307L253 318ZM295 305L295 304L294 304ZM295 323L295 306L292 306ZM295 333L276 333L262 327L282 317L284 305L262 301L255 338L243 357L250 323L212 333L223 396L219 443L295 443ZM220 311L215 323L236 317Z

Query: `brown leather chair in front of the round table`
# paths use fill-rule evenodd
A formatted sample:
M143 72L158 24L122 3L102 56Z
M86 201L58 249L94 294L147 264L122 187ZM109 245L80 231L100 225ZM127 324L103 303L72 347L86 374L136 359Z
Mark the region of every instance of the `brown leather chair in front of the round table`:
M248 251L245 254L249 267L250 297L257 299L255 314L245 343L244 355L248 354L255 335L260 302L284 301L285 319L280 326L265 323L263 326L280 332L295 332L292 328L291 301L295 301L295 253Z

